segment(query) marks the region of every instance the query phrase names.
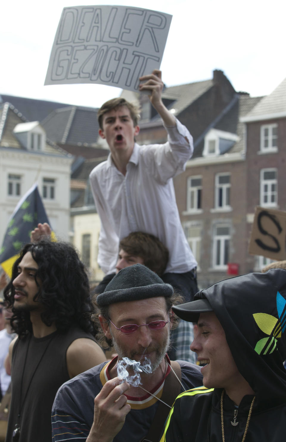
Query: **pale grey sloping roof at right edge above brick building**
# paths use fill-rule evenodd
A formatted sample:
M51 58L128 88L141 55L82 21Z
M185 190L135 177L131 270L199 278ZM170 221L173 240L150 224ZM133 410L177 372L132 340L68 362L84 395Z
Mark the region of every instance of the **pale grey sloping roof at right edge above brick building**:
M286 78L270 95L264 97L244 118L241 118L241 121L252 122L282 117L286 117Z

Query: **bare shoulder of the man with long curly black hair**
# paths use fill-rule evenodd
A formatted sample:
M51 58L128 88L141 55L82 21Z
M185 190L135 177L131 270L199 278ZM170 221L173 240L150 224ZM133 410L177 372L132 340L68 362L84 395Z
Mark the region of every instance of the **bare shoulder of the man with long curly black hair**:
M102 348L92 339L75 339L68 347L67 367L70 378L105 361Z

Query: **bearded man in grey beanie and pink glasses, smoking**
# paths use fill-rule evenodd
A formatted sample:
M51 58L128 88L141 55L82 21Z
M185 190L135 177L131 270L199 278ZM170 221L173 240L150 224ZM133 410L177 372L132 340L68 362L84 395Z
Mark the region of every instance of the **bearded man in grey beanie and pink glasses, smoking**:
M125 267L109 282L96 299L94 320L102 329L99 341L105 347L113 342L118 358L62 385L52 411L54 442L160 439L177 394L202 385L198 366L170 363L166 355L170 328L176 322L171 306L179 299L172 286L142 264ZM149 364L149 373L140 372L138 386L117 377L124 357L146 370ZM132 367L128 365L128 373L136 377Z

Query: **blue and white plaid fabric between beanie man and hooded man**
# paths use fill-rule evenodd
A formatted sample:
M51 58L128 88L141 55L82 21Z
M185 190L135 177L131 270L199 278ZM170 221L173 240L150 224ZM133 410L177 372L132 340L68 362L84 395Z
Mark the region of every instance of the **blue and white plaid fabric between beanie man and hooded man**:
M173 347L175 349L175 360L192 362L196 364L196 353L190 350L194 339L194 327L192 322L180 320L175 330L172 331Z

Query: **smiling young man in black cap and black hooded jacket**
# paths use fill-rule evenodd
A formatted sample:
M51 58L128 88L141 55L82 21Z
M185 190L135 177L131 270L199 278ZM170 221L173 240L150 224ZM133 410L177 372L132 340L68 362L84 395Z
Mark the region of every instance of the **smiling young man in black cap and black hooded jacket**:
M161 442L284 440L286 270L218 282L173 311L198 323L204 387L177 397Z

